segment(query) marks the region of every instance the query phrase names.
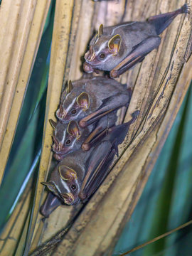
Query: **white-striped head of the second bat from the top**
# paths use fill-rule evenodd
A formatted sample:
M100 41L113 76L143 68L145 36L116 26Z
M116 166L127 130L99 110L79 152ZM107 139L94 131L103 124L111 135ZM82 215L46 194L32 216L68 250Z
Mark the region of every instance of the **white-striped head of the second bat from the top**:
M90 96L87 92L73 90L73 86L71 86L67 93L63 105L60 105L56 112L56 116L62 122L77 119L80 114L84 113L90 107Z

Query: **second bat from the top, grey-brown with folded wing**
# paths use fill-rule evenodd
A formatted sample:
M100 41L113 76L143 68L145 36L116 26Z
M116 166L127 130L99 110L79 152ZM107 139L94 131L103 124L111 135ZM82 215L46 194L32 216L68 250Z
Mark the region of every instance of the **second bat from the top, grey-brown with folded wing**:
M126 87L108 78L82 79L73 82L56 115L61 122L80 120L80 127L97 122L105 115L128 106L131 98Z

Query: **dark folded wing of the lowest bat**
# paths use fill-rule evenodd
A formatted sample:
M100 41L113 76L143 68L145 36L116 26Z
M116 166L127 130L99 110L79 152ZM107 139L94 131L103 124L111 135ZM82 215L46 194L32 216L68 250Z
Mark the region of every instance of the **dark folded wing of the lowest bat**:
M99 145L95 146L87 160L87 171L80 188L79 197L82 201L86 201L109 174L110 165L115 154L118 153L117 146L123 142L129 125L130 122L110 128L107 136Z

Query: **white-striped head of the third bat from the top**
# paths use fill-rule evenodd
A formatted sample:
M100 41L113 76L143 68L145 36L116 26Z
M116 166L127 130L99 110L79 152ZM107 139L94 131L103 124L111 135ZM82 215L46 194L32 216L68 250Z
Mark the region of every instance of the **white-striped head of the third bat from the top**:
M66 154L80 149L80 136L80 127L76 121L70 121L68 124L58 122L55 127L55 136L53 136L54 143L52 146L55 152L55 159L60 161Z

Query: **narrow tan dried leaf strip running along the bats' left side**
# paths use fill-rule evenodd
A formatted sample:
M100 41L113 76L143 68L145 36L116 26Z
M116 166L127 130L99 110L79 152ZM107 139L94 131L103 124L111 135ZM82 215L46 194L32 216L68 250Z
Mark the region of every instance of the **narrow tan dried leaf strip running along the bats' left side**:
M41 164L38 176L38 183L36 188L36 197L32 210L32 217L30 227L28 229L28 236L26 240L26 249L24 253L28 253L31 247L31 240L36 225L36 218L38 215L39 206L42 199L43 186L42 181L46 180L48 166L51 160L51 144L52 127L48 119L54 119L55 110L60 101L60 93L63 85L63 75L65 70L65 63L68 53L68 44L70 40L70 24L73 19L74 1L56 1L55 19L53 27L53 41L50 55L50 70L48 79L48 95L47 108L43 136L43 151L41 156ZM21 244L22 240L20 241Z

